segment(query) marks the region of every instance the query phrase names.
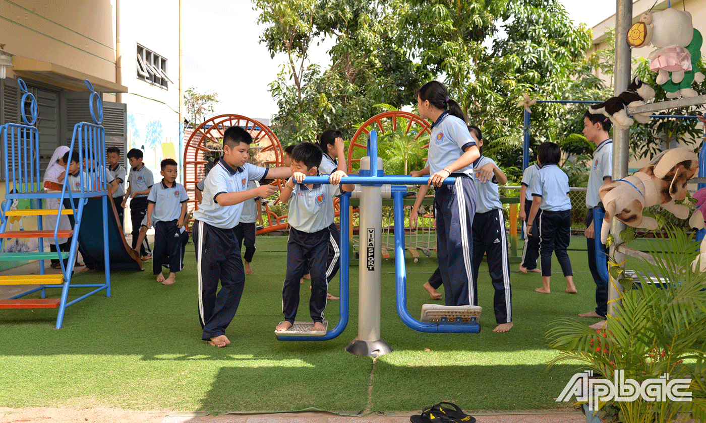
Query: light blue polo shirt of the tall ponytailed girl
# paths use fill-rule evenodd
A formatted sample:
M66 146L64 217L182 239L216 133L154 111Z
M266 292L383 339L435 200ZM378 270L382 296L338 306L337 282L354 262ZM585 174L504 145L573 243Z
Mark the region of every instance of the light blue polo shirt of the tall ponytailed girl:
M427 155L431 175L452 164L471 145L476 145L476 140L468 132L466 123L460 118L450 115L448 111L444 111L431 125ZM458 169L455 173L466 173L472 178L473 165L469 164L465 168Z

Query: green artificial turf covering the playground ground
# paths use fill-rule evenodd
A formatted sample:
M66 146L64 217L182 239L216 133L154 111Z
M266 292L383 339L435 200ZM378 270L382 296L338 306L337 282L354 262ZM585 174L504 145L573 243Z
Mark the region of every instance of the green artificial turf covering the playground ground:
M544 333L561 317L594 309L594 283L586 264L585 238L574 237L569 254L579 293L569 295L556 259L551 295L534 293L539 274L517 273L511 264L513 321L509 333L493 333L493 289L486 264L479 275L481 333L419 333L395 310L394 262L382 273L381 337L393 352L373 360L345 346L357 336L357 266L351 267L347 329L330 341L277 341L285 276L285 237L258 237L238 312L227 330L232 345L201 341L196 310L193 244L187 246L177 283L154 281L145 272L114 272L112 297L92 295L68 307L64 327L54 330L56 309L1 310L0 406L123 407L138 410L282 411L306 407L357 413L419 410L449 400L465 410L528 410L566 406L556 398L578 369L559 364ZM407 259L408 309L419 317L433 302L421 285L436 259ZM81 283L103 278L76 274ZM309 319L303 285L299 317ZM338 293L337 280L330 292ZM75 290L71 298L83 293ZM52 295L54 294L54 295ZM58 295L58 291L49 296ZM436 302L441 303L441 302ZM329 301L329 329L339 320ZM597 319L584 319L592 324Z

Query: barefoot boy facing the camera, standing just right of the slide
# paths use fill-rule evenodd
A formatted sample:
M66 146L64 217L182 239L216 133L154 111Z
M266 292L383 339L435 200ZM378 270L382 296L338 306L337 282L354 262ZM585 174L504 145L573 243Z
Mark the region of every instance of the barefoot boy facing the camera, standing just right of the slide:
M181 227L186 219L186 195L184 186L177 183L177 162L164 159L160 164L162 182L152 185L147 197L147 228L155 225L155 249L152 251L152 273L157 282L172 285L177 281L177 271L184 266L181 255ZM169 277L164 279L162 264L169 262Z

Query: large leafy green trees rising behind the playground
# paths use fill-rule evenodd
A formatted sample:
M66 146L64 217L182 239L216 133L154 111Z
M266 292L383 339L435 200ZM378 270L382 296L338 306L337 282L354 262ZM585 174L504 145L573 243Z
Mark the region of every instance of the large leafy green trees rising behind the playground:
M288 58L270 85L280 109L273 126L285 143L312 140L327 128L350 136L383 111L376 104L414 106L416 90L437 79L448 85L469 123L482 128L499 166L517 168L522 157L517 100L523 92L539 99L600 99L604 95L594 94L606 91L592 73L597 62L586 58L590 30L574 25L558 0L255 4L259 23L267 27L261 42L271 54ZM333 47L330 63L319 68L308 55L323 37L333 39ZM580 133L584 109L534 106L532 144L549 134Z

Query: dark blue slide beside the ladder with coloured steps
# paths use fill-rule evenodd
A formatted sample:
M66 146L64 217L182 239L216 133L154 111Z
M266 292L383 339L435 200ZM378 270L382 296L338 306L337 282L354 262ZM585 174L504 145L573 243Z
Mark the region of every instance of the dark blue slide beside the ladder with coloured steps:
M96 270L104 269L103 258L103 209L102 197L91 197L83 206L83 219L78 231L78 243L83 254L96 264ZM79 200L74 200L78 205ZM110 249L110 270L144 270L135 250L125 240L123 228L118 223L118 213L112 199L108 199L108 245ZM73 216L68 215L73 225Z

